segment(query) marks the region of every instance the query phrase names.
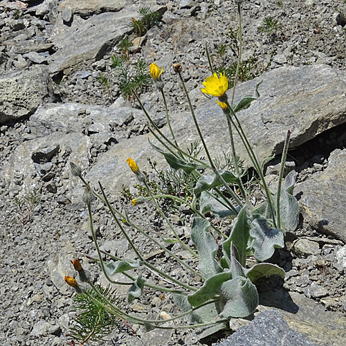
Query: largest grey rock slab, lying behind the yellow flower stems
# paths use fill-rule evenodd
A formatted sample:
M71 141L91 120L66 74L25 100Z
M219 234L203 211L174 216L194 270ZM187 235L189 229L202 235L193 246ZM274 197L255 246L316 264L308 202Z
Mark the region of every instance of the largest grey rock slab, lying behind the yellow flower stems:
M292 131L291 147L296 147L346 120L346 78L345 74L338 70L326 66L277 69L239 85L237 100L240 95L253 94L255 85L260 80L263 82L259 100L238 113L244 131L260 160L282 152L288 129ZM215 100L201 105L195 113L212 155L229 152L226 119ZM171 118L181 147L187 147L198 138L190 113L174 114ZM164 128L163 132L170 137L167 128ZM152 136L146 135L116 145L100 157L98 164L88 173L88 179L100 180L107 189L119 192L122 184L136 181L127 167L126 159L129 156L138 161L142 170L148 169L147 157L155 159L160 165L162 156L149 146L148 138L153 140ZM240 156L246 163L251 164L238 136L235 136L235 144ZM159 144L158 146L162 147ZM117 174L107 176L107 172Z

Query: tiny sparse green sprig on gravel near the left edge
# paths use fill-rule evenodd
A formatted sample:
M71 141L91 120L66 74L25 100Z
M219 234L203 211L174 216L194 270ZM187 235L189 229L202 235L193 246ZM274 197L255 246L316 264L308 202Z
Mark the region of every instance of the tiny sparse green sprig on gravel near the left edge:
M41 194L39 190L34 188L24 197L15 197L15 205L17 206L17 221L24 226L33 220L33 212L36 206L41 202Z

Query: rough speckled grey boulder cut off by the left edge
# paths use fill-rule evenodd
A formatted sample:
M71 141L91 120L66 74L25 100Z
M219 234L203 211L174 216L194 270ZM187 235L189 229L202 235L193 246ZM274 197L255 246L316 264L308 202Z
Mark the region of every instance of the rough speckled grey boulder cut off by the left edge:
M46 67L33 66L0 76L0 125L26 118L49 101L53 96Z

